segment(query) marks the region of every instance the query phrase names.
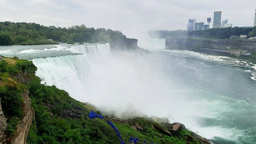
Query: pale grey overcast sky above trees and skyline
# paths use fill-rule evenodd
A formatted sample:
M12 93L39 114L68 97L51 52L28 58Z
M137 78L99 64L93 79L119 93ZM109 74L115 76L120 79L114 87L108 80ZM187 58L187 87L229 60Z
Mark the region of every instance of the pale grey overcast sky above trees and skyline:
M120 30L138 38L148 30L187 29L213 12L234 26L253 26L256 0L0 0L0 21ZM212 27L212 22L210 23Z

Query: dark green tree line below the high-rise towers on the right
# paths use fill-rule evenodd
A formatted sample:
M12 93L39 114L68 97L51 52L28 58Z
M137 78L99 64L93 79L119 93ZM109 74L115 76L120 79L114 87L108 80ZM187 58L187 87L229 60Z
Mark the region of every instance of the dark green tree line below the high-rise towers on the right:
M256 27L245 28L245 27L228 27L228 28L209 28L207 30L196 30L196 31L186 31L186 30L152 30L148 31L148 35L151 37L202 37L202 38L218 38L218 39L228 39L232 35L247 35L248 37L256 36Z

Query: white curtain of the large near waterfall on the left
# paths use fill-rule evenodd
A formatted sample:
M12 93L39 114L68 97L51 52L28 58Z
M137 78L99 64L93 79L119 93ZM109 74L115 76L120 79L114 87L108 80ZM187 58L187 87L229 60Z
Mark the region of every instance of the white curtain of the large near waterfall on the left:
M70 47L71 52L81 55L68 55L33 59L37 67L36 75L42 83L55 85L79 100L85 95L88 78L91 74L91 63L94 60L104 61L110 58L109 44L79 45Z

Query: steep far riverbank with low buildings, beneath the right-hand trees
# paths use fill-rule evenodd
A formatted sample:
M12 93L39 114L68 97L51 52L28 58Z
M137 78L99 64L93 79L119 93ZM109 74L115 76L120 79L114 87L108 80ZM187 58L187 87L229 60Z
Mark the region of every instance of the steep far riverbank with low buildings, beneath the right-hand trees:
M256 61L256 41L244 39L166 38L166 49Z

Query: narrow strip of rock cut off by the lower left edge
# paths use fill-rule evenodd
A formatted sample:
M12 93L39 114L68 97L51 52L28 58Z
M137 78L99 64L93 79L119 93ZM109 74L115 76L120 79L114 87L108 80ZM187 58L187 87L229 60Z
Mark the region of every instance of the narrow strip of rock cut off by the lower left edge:
M7 126L6 118L4 117L4 114L2 111L2 105L1 105L1 99L0 99L0 144L6 143L6 135L4 133L6 126Z

